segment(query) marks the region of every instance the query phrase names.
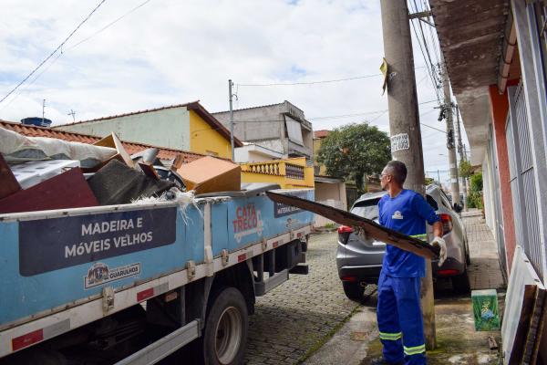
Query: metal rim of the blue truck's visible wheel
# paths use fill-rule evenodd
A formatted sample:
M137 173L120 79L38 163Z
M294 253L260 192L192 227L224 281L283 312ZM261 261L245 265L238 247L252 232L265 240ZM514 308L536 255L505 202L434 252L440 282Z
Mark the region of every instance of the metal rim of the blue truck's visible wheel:
M215 333L216 356L220 363L229 364L235 359L242 341L242 316L237 308L224 309Z

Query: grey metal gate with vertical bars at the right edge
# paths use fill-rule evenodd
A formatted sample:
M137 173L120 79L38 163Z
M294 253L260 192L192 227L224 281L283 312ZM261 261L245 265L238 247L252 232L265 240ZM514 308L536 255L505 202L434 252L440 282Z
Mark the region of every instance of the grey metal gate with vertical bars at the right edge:
M531 136L522 81L516 89L510 89L511 120L508 120L506 133L509 142L510 183L517 242L522 245L538 276L543 277L540 217L538 215Z

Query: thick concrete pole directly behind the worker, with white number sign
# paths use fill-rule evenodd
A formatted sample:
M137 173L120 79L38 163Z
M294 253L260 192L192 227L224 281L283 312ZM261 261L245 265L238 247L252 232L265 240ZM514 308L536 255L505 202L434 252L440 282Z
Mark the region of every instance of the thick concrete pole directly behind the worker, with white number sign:
M387 107L394 160L408 167L405 187L425 193L424 157L419 128L418 96L408 7L405 0L382 0L384 54L387 60ZM435 307L431 262L426 260L426 277L421 282L426 348L435 349Z

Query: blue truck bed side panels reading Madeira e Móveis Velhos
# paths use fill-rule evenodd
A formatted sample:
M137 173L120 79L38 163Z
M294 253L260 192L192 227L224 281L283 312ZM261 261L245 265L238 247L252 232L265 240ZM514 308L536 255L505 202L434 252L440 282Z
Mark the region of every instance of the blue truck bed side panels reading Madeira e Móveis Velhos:
M287 191L313 199L312 190ZM0 215L0 357L307 235L264 193Z

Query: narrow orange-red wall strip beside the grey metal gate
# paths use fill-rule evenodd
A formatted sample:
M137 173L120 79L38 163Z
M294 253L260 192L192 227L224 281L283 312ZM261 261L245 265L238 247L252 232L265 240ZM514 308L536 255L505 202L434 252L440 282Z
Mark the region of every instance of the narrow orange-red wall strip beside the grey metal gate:
M511 271L512 258L515 253L515 225L511 197L509 155L507 140L505 138L505 124L509 111L509 100L507 92L500 95L496 85L490 85L490 111L496 139L498 152L498 172L500 174L501 211L503 216L503 233L505 240L505 251L507 255L507 272Z

